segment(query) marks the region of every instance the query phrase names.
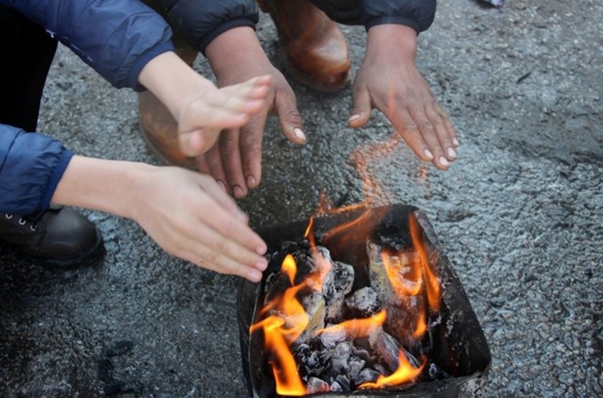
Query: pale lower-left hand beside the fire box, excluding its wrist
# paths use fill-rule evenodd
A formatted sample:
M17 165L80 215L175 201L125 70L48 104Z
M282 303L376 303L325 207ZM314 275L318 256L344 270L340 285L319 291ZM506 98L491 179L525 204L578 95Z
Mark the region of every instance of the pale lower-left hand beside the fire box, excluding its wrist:
M179 167L153 167L142 181L131 218L167 253L208 270L262 279L266 245L214 179Z

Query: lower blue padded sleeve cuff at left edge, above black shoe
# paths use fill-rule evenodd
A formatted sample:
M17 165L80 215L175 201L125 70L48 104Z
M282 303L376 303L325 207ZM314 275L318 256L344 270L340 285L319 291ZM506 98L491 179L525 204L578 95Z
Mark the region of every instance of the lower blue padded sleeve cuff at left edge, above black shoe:
M59 140L0 124L0 211L47 209L72 157Z

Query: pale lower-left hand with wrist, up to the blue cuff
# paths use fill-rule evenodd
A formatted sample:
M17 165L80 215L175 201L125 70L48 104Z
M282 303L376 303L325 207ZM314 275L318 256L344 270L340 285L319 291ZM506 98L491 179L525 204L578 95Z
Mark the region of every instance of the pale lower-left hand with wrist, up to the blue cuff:
M133 219L167 253L208 270L258 282L267 267L248 217L198 172L74 156L52 201Z

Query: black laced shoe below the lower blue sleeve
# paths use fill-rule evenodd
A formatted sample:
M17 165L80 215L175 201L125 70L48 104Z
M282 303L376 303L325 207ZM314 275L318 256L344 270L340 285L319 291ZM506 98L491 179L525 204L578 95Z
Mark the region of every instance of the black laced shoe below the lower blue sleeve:
M0 214L0 241L47 268L86 265L103 251L96 226L73 209L55 207L28 216Z

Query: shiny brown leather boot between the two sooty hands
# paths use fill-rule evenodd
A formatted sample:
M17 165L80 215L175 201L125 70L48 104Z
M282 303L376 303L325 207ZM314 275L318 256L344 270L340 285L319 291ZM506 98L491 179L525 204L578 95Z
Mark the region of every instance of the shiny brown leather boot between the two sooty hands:
M258 0L275 22L284 65L299 82L319 92L336 92L350 79L345 36L310 0Z

